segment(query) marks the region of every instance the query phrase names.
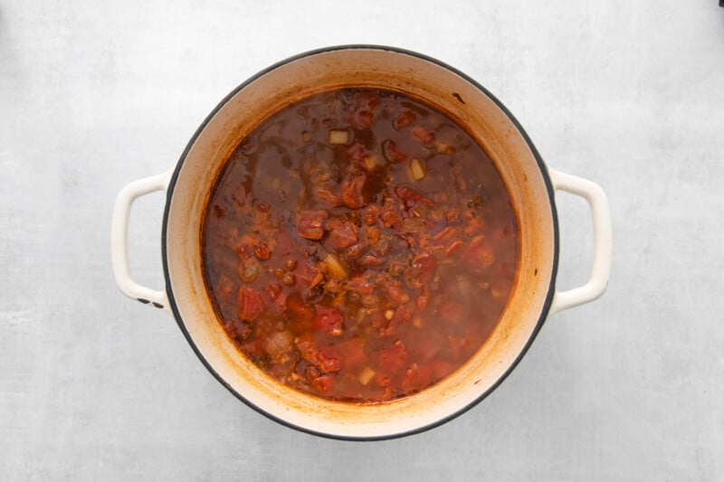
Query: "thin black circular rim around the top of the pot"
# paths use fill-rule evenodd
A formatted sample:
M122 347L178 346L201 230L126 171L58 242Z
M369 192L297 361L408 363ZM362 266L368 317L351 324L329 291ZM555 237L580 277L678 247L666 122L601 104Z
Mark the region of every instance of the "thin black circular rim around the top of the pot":
M338 435L334 433L328 433L324 431L318 431L309 429L306 427L301 427L299 425L296 425L294 423L291 423L290 421L286 421L284 419L281 419L280 417L277 417L273 414L271 414L269 411L265 411L262 407L257 406L244 398L242 393L237 392L234 390L234 388L231 386L231 384L227 383L224 380L224 377L216 372L214 367L206 360L204 354L202 354L198 348L198 346L195 344L194 339L192 336L190 336L188 330L186 330L186 326L184 324L183 318L181 317L178 307L176 306L176 298L174 297L173 290L171 289L171 285L169 282L170 276L168 272L168 257L167 257L167 224L168 224L168 212L170 209L171 204L171 198L174 194L174 189L176 187L176 180L178 178L178 175L181 171L181 168L184 165L184 162L186 161L186 156L188 155L189 150L191 149L191 146L194 145L196 139L200 136L201 132L204 130L206 125L209 123L209 121L214 118L216 113L224 107L224 105L233 98L234 95L236 95L240 90L243 90L247 85L252 83L252 81L259 79L266 73L273 71L279 67L281 67L284 64L290 63L291 61L298 61L300 59L303 59L305 57L310 57L314 55L318 55L320 53L326 53L326 52L335 52L335 51L342 51L342 50L377 50L377 51L387 51L387 52L394 52L394 53L400 53L404 55L409 55L412 57L416 57L418 59L422 59L424 61L429 61L434 64L439 65L440 67L443 67L443 69L447 71L451 71L452 73L459 75L464 80L467 80L470 82L473 86L475 86L477 89L481 90L486 96L488 96L496 106L498 106L499 109L501 109L505 115L510 118L510 121L513 123L513 125L518 129L520 135L525 139L526 144L529 146L530 151L533 153L533 156L536 159L536 163L538 164L538 168L540 169L540 173L543 177L543 181L546 184L546 190L548 192L548 199L550 201L550 208L551 208L551 214L552 214L552 220L553 220L553 262L552 262L552 273L550 278L550 283L548 286L548 294L546 296L545 302L543 304L543 309L540 313L540 316L538 317L538 322L536 323L536 326L533 329L533 332L530 334L528 341L523 346L522 350L520 350L520 353L516 356L515 360L512 364L506 369L506 371L500 375L500 378L495 381L491 385L491 387L483 392L481 396L473 400L472 402L468 403L462 409L458 411L454 411L452 413L449 413L447 416L437 420L433 421L431 423L425 424L421 427L417 427L413 430L405 430L390 434L384 434L384 435L371 435L371 436L347 436L347 435ZM545 324L546 318L548 317L548 313L550 311L550 307L553 303L553 297L556 292L556 279L557 279L557 268L558 268L558 250L559 250L559 232L558 232L558 218L557 218L557 209L556 209L556 202L555 202L555 190L553 188L553 184L550 180L550 176L548 175L548 167L543 161L542 157L538 153L538 150L533 145L532 140L528 136L528 133L523 129L523 127L520 125L517 118L515 118L510 110L508 110L503 103L497 99L492 93L485 89L479 82L472 79L467 74L463 73L462 71L459 71L455 69L454 67L448 65L447 63L444 63L443 61L438 61L437 59L434 59L433 57L429 57L427 55L424 55L423 53L413 52L406 49L398 48L398 47L391 47L386 45L376 45L376 44L366 44L366 43L355 43L355 44L341 44L341 45L333 45L328 47L321 47L319 49L310 50L307 52L301 52L296 55L293 55L291 57L288 57L287 59L284 59L282 61L278 61L276 63L273 63L271 66L267 67L266 69L263 69L262 71L258 71L257 73L253 74L251 77L249 77L247 80L244 80L239 86L237 86L235 89L233 89L224 99L222 99L216 107L209 113L208 116L204 119L204 121L201 123L201 125L196 129L194 135L189 139L188 143L186 144L186 148L184 149L184 152L181 154L181 156L178 159L178 162L176 163L176 167L174 169L173 174L171 175L171 179L168 184L167 188L167 197L166 197L166 205L164 207L164 214L163 214L163 221L162 221L162 231L161 231L161 259L163 262L163 268L164 268L164 280L166 283L166 293L168 297L168 303L171 307L171 310L174 314L174 318L176 319L176 324L178 325L181 332L186 337L186 341L189 345L191 345L191 348L194 350L194 353L199 358L202 364L205 365L206 369L214 375L214 378L224 385L224 387L233 394L237 399L239 399L241 402L252 408L252 410L257 411L261 413L263 416L267 417L271 421L276 421L277 423L280 423L281 425L284 425L286 427L289 427L294 430L299 430L304 433L308 433L310 435L316 435L319 437L327 438L327 439L338 439L338 440L349 440L349 441L375 441L375 440L386 440L386 439L399 439L403 438L409 435L414 435L417 433L424 432L426 430L431 430L435 427L438 427L440 425L443 425L444 423L448 421L452 421L452 419L455 419L462 415L462 413L469 411L477 405L478 403L482 402L488 395L491 394L491 392L495 391L496 388L505 381L506 378L508 378L508 375L518 366L520 361L523 359L523 356L525 356L526 353L528 353L530 345L533 344L533 342L536 339L536 336L538 336L538 332Z

